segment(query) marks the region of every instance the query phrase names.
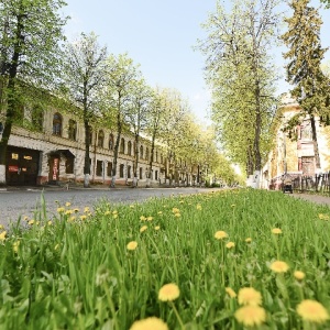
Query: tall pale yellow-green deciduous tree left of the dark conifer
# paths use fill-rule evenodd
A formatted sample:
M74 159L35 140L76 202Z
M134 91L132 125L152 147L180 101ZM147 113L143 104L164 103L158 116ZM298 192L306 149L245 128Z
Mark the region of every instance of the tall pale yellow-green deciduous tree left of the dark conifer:
M235 0L228 13L218 2L204 25L208 38L200 43L219 139L230 155L241 154L249 174L261 170L263 140L273 116L276 75L268 53L277 35L276 6L276 0Z

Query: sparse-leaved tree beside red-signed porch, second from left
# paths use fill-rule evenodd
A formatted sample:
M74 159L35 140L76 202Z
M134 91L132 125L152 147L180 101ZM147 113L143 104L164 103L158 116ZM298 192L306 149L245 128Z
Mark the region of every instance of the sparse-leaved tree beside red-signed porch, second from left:
M65 96L77 106L85 128L84 187L89 187L90 122L99 112L99 90L105 84L107 48L100 47L95 33L81 33L67 43L64 52L63 85ZM81 113L82 111L82 113Z

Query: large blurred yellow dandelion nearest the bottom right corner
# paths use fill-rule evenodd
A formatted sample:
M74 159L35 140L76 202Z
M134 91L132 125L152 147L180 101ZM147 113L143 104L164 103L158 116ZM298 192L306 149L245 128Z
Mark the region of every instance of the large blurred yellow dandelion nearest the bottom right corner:
M306 299L297 306L298 315L305 320L322 323L329 319L327 309L318 301Z

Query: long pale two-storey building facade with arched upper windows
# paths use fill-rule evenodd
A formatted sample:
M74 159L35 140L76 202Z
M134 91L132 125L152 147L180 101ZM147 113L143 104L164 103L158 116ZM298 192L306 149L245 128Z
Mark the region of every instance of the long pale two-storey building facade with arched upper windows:
M8 185L45 185L84 183L85 129L78 118L56 110L22 109L22 122L12 129L7 151ZM3 120L2 120L3 121ZM0 118L0 122L1 118ZM2 131L0 131L1 138ZM110 185L116 132L91 128L90 184ZM151 142L141 138L139 145L138 186L148 176ZM122 134L117 165L117 185L133 182L134 139ZM191 160L172 160L161 146L154 151L151 185L197 185L197 166Z

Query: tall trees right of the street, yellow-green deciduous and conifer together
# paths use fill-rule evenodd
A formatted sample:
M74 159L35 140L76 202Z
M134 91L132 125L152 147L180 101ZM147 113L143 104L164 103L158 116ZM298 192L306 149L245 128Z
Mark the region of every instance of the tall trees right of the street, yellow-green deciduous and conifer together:
M200 41L206 54L206 78L212 91L212 119L220 143L234 162L245 165L246 174L258 174L272 146L272 123L277 107L276 67L272 52L286 45L287 81L309 116L316 164L320 167L315 116L329 116L329 79L320 65L327 50L320 44L321 20L308 0L293 0L288 30L278 30L284 14L277 0L233 0L226 11L220 2L204 28ZM330 4L328 0L323 2Z

